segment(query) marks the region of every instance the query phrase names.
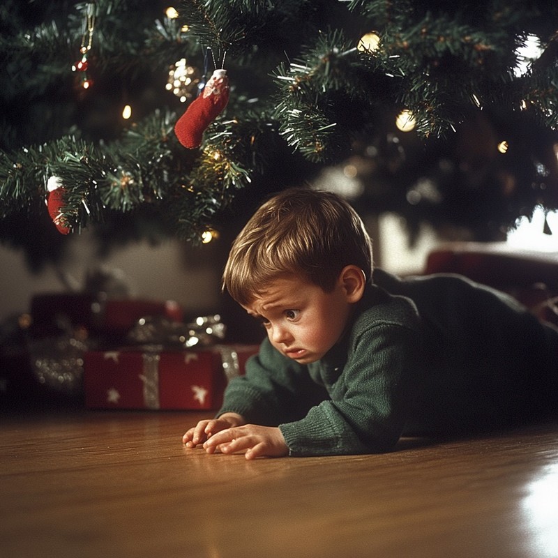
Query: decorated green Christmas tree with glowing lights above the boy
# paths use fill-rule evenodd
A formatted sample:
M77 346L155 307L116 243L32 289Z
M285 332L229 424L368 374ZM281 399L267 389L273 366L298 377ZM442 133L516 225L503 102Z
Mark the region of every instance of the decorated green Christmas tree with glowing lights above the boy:
M359 210L480 240L558 207L555 0L7 0L0 25L0 239L34 266L84 227L211 239L335 167Z

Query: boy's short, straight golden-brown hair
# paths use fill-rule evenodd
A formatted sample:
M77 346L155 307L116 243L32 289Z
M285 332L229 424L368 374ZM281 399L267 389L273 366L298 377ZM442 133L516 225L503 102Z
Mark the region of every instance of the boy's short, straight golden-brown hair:
M356 211L331 192L289 188L264 203L236 237L223 290L246 305L276 278L294 274L331 292L350 264L372 282L372 242Z

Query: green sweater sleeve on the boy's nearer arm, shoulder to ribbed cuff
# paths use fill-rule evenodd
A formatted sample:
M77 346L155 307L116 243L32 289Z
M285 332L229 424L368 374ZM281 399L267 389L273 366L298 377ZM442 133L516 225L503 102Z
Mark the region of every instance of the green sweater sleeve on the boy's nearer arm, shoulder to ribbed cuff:
M345 455L389 451L412 410L421 373L418 330L376 322L354 340L331 400L301 420L280 425L289 455Z

